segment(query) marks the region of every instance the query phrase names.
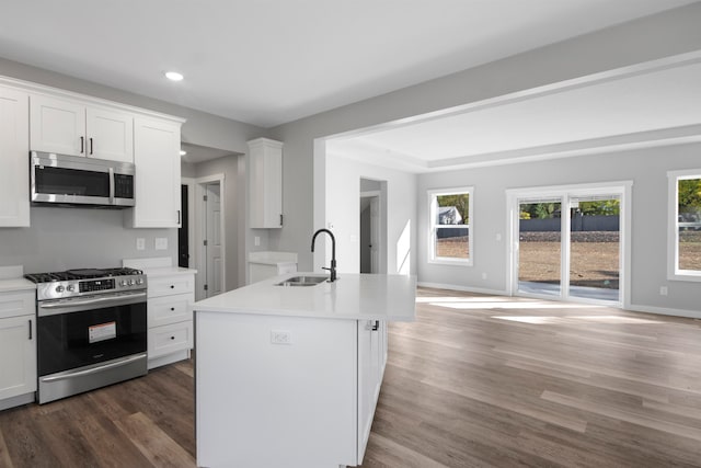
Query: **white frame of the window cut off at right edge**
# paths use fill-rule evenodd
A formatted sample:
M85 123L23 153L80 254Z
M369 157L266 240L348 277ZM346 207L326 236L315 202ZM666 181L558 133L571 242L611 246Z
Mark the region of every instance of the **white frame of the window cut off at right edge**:
M668 171L667 279L701 282L701 270L679 269L679 181L701 179L701 169Z

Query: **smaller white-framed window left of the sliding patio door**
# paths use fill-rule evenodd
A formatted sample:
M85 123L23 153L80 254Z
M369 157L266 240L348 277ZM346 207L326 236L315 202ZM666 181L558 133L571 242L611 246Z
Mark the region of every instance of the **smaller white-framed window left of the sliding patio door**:
M428 261L472 264L472 187L428 191Z

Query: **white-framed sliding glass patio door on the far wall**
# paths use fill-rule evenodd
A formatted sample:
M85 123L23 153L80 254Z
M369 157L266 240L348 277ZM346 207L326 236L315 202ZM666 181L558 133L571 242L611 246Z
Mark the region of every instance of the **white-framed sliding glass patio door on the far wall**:
M621 306L630 184L509 193L512 294Z

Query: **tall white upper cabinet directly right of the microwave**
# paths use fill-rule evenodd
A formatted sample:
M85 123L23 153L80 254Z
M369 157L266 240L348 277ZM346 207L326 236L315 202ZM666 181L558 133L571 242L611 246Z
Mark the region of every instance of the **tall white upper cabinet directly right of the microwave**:
M137 117L134 121L136 206L130 227L179 228L180 124Z

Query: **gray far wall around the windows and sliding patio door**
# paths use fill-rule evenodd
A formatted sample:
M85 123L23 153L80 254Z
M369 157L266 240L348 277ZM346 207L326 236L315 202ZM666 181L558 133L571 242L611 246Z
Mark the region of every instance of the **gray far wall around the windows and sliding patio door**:
M473 266L447 266L426 262L428 239L418 230L418 277L424 283L505 292L509 249L506 240L507 189L584 184L631 180L632 269L631 305L687 310L699 315L701 283L667 281L667 171L701 168L701 144L590 155L551 161L423 174L421 201L426 191L458 185L474 186ZM418 225L428 222L426 203L418 204ZM502 240L496 240L496 235ZM482 278L486 273L486 279ZM660 296L659 287L669 295Z

